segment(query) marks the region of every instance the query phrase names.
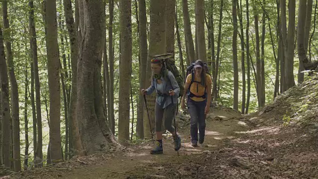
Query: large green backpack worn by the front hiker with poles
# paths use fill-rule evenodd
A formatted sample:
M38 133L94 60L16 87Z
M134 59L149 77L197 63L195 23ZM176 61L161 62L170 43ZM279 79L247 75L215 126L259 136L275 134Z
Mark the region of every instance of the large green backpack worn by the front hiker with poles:
M177 67L174 64L173 54L155 55L153 57L153 59L161 60L161 62L163 64L163 68L167 69L168 71L170 71L173 74L173 76L174 76L175 80L177 81L179 88L180 88L179 97L182 96L183 92L184 92L183 78L181 77Z

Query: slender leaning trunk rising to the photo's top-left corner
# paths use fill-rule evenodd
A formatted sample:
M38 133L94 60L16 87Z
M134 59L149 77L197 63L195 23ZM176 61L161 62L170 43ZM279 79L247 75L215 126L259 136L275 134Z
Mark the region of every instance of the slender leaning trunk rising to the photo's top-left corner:
M11 86L11 105L12 105L12 132L13 132L13 160L14 160L14 171L21 171L21 157L20 157L20 123L19 123L19 92L18 85L14 74L13 56L11 49L10 40L10 26L7 13L7 0L2 1L2 12L3 12L3 29L6 31L4 37L5 52L7 54L7 65L8 73Z

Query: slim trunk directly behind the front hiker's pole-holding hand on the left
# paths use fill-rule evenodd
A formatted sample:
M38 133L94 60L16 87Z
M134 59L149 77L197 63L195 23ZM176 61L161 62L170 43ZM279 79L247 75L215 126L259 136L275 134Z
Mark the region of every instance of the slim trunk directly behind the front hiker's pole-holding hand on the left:
M139 90L145 89L146 71L147 71L147 15L146 15L146 0L139 0L139 49L140 49L140 87ZM146 119L146 118L145 118ZM144 98L139 94L138 99L138 114L137 114L137 136L144 138Z

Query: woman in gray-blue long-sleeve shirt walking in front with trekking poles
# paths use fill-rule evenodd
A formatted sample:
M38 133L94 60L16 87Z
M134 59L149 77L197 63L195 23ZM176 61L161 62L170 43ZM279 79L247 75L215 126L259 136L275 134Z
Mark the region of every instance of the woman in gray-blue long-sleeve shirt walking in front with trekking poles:
M154 90L157 91L155 105L155 129L157 137L157 146L150 153L163 153L161 124L164 111L164 127L172 134L175 145L174 150L178 151L181 147L181 138L178 134L175 133L174 127L172 126L172 119L174 116L174 109L176 108L180 88L173 74L163 67L163 64L160 59L155 58L151 60L151 69L153 71L151 86L146 90L141 90L143 95L150 95L154 92ZM171 101L171 98L173 98L173 101Z

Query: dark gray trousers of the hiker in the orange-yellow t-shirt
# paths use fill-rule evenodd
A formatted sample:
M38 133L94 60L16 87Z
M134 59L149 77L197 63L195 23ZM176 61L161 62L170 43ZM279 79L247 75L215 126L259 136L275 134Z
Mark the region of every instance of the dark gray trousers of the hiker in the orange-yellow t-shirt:
M204 101L194 101L188 97L187 106L190 113L190 134L191 142L198 142L198 124L200 138L203 139L205 136L205 106L207 100Z

